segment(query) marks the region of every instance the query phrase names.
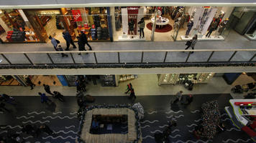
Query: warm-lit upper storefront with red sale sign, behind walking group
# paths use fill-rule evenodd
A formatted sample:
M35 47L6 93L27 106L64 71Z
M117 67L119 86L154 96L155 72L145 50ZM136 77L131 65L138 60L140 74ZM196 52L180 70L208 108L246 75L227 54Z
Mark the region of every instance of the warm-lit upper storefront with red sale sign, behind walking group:
M75 41L81 31L87 35L88 41L110 41L105 7L25 9L24 11L43 42L47 42L49 36L65 42L62 34L64 30L67 30Z

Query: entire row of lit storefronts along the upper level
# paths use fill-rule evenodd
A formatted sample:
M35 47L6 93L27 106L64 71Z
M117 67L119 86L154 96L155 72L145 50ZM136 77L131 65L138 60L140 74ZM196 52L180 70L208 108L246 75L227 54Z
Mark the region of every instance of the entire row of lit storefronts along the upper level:
M256 35L253 9L232 6L5 9L0 11L0 37L4 42L47 42L53 36L65 42L62 33L67 30L74 41L81 31L88 41L188 41L196 34L198 41L223 41L235 16L239 23L234 29L253 39Z

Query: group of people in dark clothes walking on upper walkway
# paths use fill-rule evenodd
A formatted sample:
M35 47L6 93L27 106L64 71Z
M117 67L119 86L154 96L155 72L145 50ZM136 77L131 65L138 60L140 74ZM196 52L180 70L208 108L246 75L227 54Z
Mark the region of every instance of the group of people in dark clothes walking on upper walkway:
M81 34L79 34L79 36L76 36L76 38L78 39L78 50L79 51L86 51L86 47L85 47L86 45L89 47L89 50L92 50L91 45L88 44L87 36L86 36L86 34L83 33L83 31L81 31ZM50 39L55 51L63 51L62 46L58 45L58 44L60 44L60 41L58 39L55 39L52 36L49 36L49 39ZM63 31L63 39L65 39L65 42L66 42L65 51L69 51L70 44L72 44L73 49L76 49L76 44L74 43L72 36L69 34L69 32L67 30ZM81 55L81 53L78 55ZM62 56L67 57L68 54L62 53Z

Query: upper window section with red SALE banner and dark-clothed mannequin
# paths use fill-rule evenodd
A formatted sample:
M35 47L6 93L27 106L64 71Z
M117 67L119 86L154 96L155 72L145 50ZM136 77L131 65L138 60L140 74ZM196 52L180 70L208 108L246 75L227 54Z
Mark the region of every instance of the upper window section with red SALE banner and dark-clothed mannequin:
M155 6L114 7L114 41L151 41ZM155 20L155 19L154 19Z

